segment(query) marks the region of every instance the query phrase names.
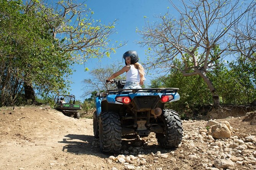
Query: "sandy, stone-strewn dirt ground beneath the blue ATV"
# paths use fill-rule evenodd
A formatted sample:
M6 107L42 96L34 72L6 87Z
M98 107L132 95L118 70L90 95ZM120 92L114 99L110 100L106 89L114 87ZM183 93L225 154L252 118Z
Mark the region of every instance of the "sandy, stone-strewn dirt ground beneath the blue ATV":
M176 149L160 148L151 133L141 138L126 136L120 154L107 155L94 139L92 119L66 117L47 106L1 107L0 169L253 170L256 125L251 120L255 117L243 119L215 120L216 126L230 126L227 139L214 139L213 129L209 135L208 121L184 120L183 140ZM228 123L218 124L224 121Z

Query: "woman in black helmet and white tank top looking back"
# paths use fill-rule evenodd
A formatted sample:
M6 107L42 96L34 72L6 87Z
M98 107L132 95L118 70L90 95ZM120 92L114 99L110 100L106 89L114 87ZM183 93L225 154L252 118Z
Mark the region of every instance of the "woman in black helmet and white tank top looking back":
M125 59L125 65L120 71L111 75L106 81L112 82L115 77L126 72L126 82L124 88L141 88L144 84L145 72L141 64L138 63L139 56L136 51L126 51L123 54L123 59Z

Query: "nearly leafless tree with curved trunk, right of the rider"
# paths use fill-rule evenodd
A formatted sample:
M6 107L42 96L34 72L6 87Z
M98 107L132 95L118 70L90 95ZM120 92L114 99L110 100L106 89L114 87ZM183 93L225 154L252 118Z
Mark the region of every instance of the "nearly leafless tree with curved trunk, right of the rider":
M147 21L144 29L138 30L142 35L138 43L147 46L150 52L147 64L164 72L177 69L184 76L199 75L211 91L214 105L218 106L219 95L206 73L215 69L217 60L234 52L235 38L228 33L254 9L255 2L181 0L181 6L169 2L179 18L167 11L158 16L159 22Z

